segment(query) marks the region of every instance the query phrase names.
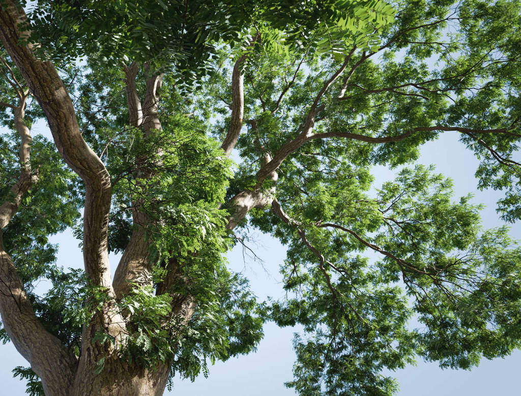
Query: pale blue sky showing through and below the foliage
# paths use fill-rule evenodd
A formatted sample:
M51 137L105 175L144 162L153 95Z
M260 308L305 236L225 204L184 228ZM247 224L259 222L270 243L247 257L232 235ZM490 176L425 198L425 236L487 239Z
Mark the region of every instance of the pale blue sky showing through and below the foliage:
M0 131L2 132L2 131ZM5 132L5 131L4 131ZM33 135L42 133L48 137L50 133L45 124L40 122L33 127ZM436 170L449 176L454 181L455 199L467 193L475 195L474 202L484 203L482 210L483 227L490 228L502 225L495 212L495 202L501 196L499 191L478 191L474 172L477 159L472 152L458 142L458 136L446 132L441 137L429 142L421 149L418 163L435 164ZM399 170L399 169L398 169ZM375 185L392 180L396 171L384 167L375 167ZM519 224L511 225L511 235L521 239ZM280 242L270 236L253 231L253 242L250 247L262 259L253 260L247 251L237 246L228 254L231 269L242 272L250 279L252 290L264 299L267 296L280 298L284 296L281 287L279 265L286 257L286 249ZM52 237L52 242L59 245L57 262L63 267L82 267L81 250L78 240L70 231ZM111 268L119 257L112 255ZM44 287L45 285L42 285ZM285 381L292 379L292 365L295 354L292 338L295 328L278 328L272 323L265 325L265 337L259 343L256 353L232 358L228 362L217 362L209 368L209 377L197 377L194 382L176 378L171 392L165 395L190 396L261 396L261 395L294 395L292 389L284 387ZM24 381L13 378L11 370L16 366L28 366L18 354L13 344L0 344L0 394L23 395ZM516 351L505 359L482 360L479 367L472 371L455 371L440 369L436 363L426 363L421 358L416 366L407 366L396 372L386 372L399 380L399 396L456 396L490 394L517 394L519 392L518 372L521 367L521 351Z

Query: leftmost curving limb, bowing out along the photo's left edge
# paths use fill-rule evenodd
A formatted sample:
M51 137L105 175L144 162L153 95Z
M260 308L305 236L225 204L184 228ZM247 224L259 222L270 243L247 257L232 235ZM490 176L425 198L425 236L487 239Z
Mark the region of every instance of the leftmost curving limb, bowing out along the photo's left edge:
M28 91L19 94L21 97L14 114L16 130L21 138L20 176L11 187L9 198L0 205L0 314L9 338L42 379L45 392L66 395L74 378L77 359L56 337L45 330L34 314L20 275L3 245L2 229L9 224L17 213L23 196L38 180L38 173L31 170L31 134L23 121Z

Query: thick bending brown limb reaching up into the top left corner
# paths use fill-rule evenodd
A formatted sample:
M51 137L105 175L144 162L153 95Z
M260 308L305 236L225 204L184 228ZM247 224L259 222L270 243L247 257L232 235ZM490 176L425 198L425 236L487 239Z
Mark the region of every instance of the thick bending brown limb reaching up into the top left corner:
M58 151L85 183L85 270L95 284L110 288L107 250L110 175L83 140L72 101L52 63L36 58L33 44L19 44L28 36L28 32L19 29L26 21L20 7L12 0L4 1L0 11L0 40L45 112Z

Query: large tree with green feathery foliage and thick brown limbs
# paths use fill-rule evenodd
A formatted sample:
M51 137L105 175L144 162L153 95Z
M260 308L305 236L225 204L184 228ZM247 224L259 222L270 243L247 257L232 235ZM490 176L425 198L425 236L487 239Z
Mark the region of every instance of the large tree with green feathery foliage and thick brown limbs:
M250 3L2 1L0 313L28 393L162 394L266 320L303 326L302 395L392 394L382 369L415 355L519 347L507 228L432 168L372 187L370 167L458 133L521 217L521 3ZM42 117L54 144L31 138ZM287 245L286 300L227 270L248 226ZM54 264L66 227L84 272Z

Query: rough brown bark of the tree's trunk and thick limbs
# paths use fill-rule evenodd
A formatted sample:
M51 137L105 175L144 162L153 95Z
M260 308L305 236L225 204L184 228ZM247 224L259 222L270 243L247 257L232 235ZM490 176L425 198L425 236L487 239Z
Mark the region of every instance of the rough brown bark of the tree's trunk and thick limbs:
M151 220L145 211L140 209L141 202L133 202L134 230L117 267L114 283L111 282L107 249L108 214L111 201L110 176L103 162L83 140L73 103L52 63L36 58L31 45L19 45L20 37L24 34L27 35L27 32L19 31L19 22L25 19L23 10L17 8L14 2L5 2L4 8L0 11L0 40L29 85L31 94L44 110L58 151L85 184L83 227L85 272L94 285L105 288L108 299L101 311L96 312L91 322L84 326L81 353L77 359L55 337L43 329L23 292L23 285L13 262L2 248L0 251L0 292L2 292L0 313L2 313L4 325L20 353L31 363L36 374L42 378L45 392L48 395L163 394L170 362L160 363L153 370L139 365L128 365L120 359L113 343L93 342L99 331L113 336L116 343L125 340L127 334L125 318L117 313L114 304L117 298L129 291L129 282L138 282L141 285L151 283L153 263L148 254L151 241L147 239L147 227L152 225ZM258 36L255 37L251 45L258 38ZM243 125L242 71L246 59L247 54L240 57L233 69L232 122L228 135L222 143L222 149L227 155L237 143ZM139 69L138 63L131 63L129 67L124 68L129 124L141 129L145 137L151 137L162 128L158 114L158 90L162 83L162 75L151 72L146 63L143 65L146 92L143 105L141 105L135 84ZM252 208L267 208L271 205L278 178L277 169L284 158L310 138L314 117L318 112L318 100L319 97L309 111L310 115L305 124L306 131L299 137L289 142L281 152L276 153L273 157L270 153L259 150L262 160L261 170L257 174L258 184L251 190L242 191L231 200L229 207L232 208L232 214L227 225L228 229L235 227ZM21 109L23 110L23 106ZM20 114L23 118L23 113ZM17 123L17 125L20 127L22 136L21 175L20 180L13 187L14 200L6 202L0 208L2 227L16 213L21 196L27 192L34 181L28 154L30 136L28 131L23 129L23 122ZM162 153L156 152L155 155L157 154L160 156ZM138 181L153 175L153 171L146 167L146 160L147 158L143 158L137 161L139 169L136 178ZM266 181L271 181L272 184L267 185ZM183 271L176 260L170 260L166 266L167 277L162 284L158 285L157 292L169 293L172 297L172 315L180 318L181 323L188 323L196 309L197 302L190 295L176 292L175 285L179 283L179 280L188 282L183 278ZM100 374L96 375L95 369L102 360L104 368Z

